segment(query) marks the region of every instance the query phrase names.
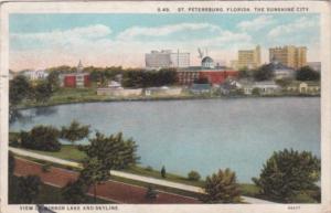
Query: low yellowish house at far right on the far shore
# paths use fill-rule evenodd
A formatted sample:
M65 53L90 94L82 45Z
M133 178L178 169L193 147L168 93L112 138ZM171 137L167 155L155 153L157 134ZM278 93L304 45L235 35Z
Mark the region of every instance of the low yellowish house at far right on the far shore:
M300 94L320 94L321 87L319 82L293 82L286 88L288 92L295 92Z

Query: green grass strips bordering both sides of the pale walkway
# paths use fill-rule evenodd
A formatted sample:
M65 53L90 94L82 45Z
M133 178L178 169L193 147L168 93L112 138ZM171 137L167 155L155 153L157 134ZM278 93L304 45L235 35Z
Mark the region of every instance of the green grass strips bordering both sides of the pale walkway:
M23 150L28 150L28 151L44 155L44 156L51 156L51 157L54 157L54 158L61 158L61 159L65 159L65 160L76 161L76 162L81 162L86 157L83 151L79 151L77 149L77 147L73 146L73 145L63 145L61 151L58 151L58 152L38 151L38 150L30 150L30 149L23 149ZM29 159L29 160L33 160L33 161L36 161L36 162L43 163L43 164L49 163L49 162L45 162L43 160L35 160L35 159L29 158L29 157L23 157L23 158ZM51 163L51 164L54 166L54 167L60 167L60 168L64 168L64 169L71 169L71 170L78 171L77 168L71 168L71 167L67 167L67 166L61 166L61 164L56 164L56 163ZM149 167L132 166L132 167L127 168L122 171L128 172L128 173L132 173L132 174L143 175L143 177L163 179L161 177L160 171L151 169ZM116 181L119 181L119 182L136 184L136 185L140 185L140 187L148 187L148 184L149 184L149 183L135 181L135 180L130 180L130 179L125 179L125 178L120 178L120 177L115 177L115 175L113 175L111 179L116 180ZM173 173L169 173L169 172L167 172L167 178L163 179L163 180L171 181L171 182L183 183L183 184L188 184L188 185L200 187L200 188L204 187L204 181L203 180L191 181L186 177L179 175L179 174L173 174ZM241 190L242 190L243 195L249 195L249 196L256 196L257 198L258 188L256 185L250 184L250 183L241 183L239 185L241 185ZM197 194L195 194L195 193L185 192L185 191L177 190L177 189L172 189L172 188L156 185L156 189L167 191L167 192L179 193L179 194L183 194L183 195L190 195L190 196L197 198Z

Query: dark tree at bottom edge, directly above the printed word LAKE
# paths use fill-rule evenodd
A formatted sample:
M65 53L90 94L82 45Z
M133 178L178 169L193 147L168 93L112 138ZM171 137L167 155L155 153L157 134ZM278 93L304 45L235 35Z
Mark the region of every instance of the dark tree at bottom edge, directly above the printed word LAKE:
M86 185L82 180L75 182L68 182L62 190L61 195L63 200L68 204L86 203Z

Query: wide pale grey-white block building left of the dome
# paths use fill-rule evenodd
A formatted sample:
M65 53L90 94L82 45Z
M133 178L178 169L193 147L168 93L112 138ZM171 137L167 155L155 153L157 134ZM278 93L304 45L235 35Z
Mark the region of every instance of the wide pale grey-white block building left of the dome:
M170 50L151 51L145 55L146 67L149 70L189 67L190 53L172 52Z

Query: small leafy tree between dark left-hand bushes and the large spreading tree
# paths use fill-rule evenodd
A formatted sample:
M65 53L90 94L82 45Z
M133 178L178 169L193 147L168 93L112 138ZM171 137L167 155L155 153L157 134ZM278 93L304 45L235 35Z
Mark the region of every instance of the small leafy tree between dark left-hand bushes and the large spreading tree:
M74 143L77 140L82 140L89 135L89 126L81 125L78 121L73 120L68 127L62 127L61 137L70 140Z

